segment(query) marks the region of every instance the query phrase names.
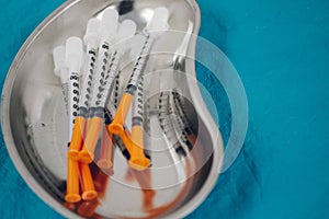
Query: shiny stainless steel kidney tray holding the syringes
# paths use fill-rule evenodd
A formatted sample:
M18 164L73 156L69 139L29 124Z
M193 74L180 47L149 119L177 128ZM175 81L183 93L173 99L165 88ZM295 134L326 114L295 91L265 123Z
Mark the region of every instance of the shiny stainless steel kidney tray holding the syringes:
M67 204L68 125L52 50L69 36L83 37L90 18L112 7L120 20L141 31L157 7L170 11L170 31L156 43L145 74L145 142L151 157L151 187L129 178L120 147L114 174L92 164L99 198ZM201 96L194 69L201 24L194 0L73 0L54 11L16 55L2 91L2 131L15 168L29 186L68 218L182 218L209 194L222 166L222 137ZM118 95L131 67L122 69ZM152 206L145 193L152 191Z

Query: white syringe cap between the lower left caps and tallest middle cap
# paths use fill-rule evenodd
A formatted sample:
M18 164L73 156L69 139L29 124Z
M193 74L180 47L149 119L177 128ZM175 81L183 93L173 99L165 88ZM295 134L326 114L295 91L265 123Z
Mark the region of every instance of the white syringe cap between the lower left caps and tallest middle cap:
M86 35L83 37L86 45L92 45L93 47L100 44L100 26L101 21L99 19L90 19L87 24Z

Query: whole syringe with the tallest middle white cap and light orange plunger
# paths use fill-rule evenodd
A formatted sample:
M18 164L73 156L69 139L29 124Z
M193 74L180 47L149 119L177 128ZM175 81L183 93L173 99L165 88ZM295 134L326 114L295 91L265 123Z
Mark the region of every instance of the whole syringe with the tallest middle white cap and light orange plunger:
M79 161L84 163L91 163L93 160L93 154L89 154L89 147L95 147L99 132L103 123L103 113L100 115L97 111L98 106L98 95L102 91L103 83L105 81L105 74L109 70L109 60L111 57L111 46L115 41L115 34L117 31L117 11L114 9L106 9L103 12L103 18L101 20L100 26L100 47L99 56L95 62L95 74L92 84L92 95L89 107L89 120L86 129L86 139L82 150L79 152Z

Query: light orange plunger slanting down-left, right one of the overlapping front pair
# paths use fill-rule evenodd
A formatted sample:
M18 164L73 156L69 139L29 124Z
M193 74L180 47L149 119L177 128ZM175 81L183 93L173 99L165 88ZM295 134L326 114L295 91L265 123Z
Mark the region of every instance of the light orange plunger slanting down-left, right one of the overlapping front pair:
M99 140L100 131L102 129L103 119L93 117L89 120L86 140L82 150L79 152L79 161L83 163L91 163L94 158L94 150Z

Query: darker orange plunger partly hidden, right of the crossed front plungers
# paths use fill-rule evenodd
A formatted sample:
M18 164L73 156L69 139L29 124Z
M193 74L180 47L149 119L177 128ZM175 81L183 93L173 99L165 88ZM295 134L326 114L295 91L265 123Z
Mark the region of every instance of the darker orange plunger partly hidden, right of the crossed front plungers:
M110 170L113 166L113 135L107 134L106 128L103 128L101 150L98 165L102 170Z

